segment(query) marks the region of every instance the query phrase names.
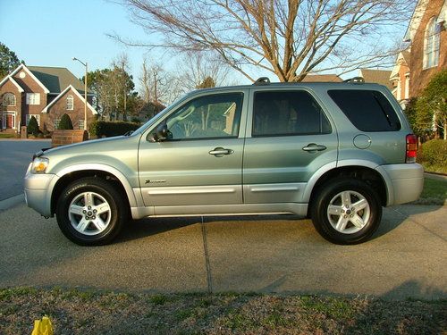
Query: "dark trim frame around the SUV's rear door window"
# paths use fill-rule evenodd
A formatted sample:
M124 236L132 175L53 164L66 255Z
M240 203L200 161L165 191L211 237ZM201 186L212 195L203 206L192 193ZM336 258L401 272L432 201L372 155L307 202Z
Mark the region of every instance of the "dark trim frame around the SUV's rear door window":
M253 130L255 128L255 98L257 93L265 93L265 92L305 92L307 93L314 102L320 107L321 113L325 116L325 119L329 125L328 131L318 131L318 132L293 132L293 133L283 133L283 134L263 134L263 135L256 135L253 133ZM309 135L328 135L333 133L333 124L331 121L331 118L329 117L328 113L325 110L325 105L313 94L313 92L307 88L291 88L291 89L283 89L283 88L270 88L270 89L257 89L253 91L253 97L250 102L250 110L251 110L251 125L249 126L249 132L251 138L283 138L283 137L296 137L296 136L309 136Z

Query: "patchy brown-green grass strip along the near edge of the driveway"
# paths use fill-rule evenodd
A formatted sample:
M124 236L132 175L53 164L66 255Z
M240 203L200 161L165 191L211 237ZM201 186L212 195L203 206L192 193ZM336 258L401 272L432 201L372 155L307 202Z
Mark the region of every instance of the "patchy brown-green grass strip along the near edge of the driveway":
M55 334L441 334L445 300L260 294L132 294L0 289L0 333L30 334L47 315Z

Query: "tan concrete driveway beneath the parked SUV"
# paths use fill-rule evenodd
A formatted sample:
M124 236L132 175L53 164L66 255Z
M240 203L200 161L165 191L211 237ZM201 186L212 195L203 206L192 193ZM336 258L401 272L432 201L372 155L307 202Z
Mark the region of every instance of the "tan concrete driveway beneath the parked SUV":
M384 209L358 246L286 216L145 219L113 245L78 247L25 205L0 213L0 287L447 297L447 206Z

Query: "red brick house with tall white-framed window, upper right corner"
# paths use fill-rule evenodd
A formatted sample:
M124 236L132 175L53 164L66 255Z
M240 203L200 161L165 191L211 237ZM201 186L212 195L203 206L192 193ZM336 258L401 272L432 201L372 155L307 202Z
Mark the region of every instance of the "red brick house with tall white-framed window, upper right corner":
M409 97L419 96L434 74L447 68L447 0L419 0L405 40L411 43Z

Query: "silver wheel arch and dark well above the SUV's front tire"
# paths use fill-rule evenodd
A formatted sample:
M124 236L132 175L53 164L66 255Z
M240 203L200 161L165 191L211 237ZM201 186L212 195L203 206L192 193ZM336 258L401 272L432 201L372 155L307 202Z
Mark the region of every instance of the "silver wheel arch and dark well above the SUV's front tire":
M63 169L61 172L57 173L58 180L51 192L51 214L55 214L55 206L57 199L72 181L80 180L86 177L97 177L104 180L109 180L114 184L114 186L122 193L124 199L127 200L129 208L137 206L137 199L131 184L118 170L114 169L112 166L103 164L80 164L72 165Z

